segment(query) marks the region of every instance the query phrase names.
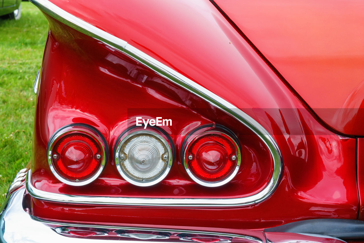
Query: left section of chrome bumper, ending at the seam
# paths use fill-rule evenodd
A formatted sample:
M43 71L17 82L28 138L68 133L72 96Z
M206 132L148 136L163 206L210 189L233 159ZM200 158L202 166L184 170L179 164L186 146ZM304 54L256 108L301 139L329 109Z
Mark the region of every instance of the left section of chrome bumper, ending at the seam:
M29 215L23 209L23 197L25 194L24 189L18 189L13 192L5 202L1 213L0 213L0 242L37 242L37 243L49 243L52 242L67 242L67 243L78 243L86 242L85 238L73 238L77 237L74 235L67 234L67 231L85 231L94 230L100 233L98 238L89 239L90 242L109 242L109 240L121 240L125 243L151 243L149 240L136 240L133 238L126 238L119 236L117 232L120 231L143 231L143 232L156 232L166 234L183 234L183 235L204 235L211 237L218 237L225 239L221 242L234 242L233 239L244 240L248 243L265 243L264 233L258 231L260 236L250 235L238 235L229 233L216 233L216 232L202 232L192 230L171 230L171 229L155 229L155 228L135 228L135 227L105 227L98 225L81 225L81 224L68 224L68 223L56 223L51 221L44 221L37 219ZM251 232L251 231L249 231ZM102 234L101 234L102 233ZM127 235L127 234L124 234ZM257 232L254 234L257 235ZM67 237L68 236L68 237ZM100 239L104 238L104 239ZM169 237L167 237L169 238ZM138 238L137 238L138 239ZM236 240L235 240L236 241ZM163 240L152 241L154 243L163 243ZM177 243L183 243L185 241L179 240ZM168 240L165 243L173 243ZM176 243L176 242L175 242Z

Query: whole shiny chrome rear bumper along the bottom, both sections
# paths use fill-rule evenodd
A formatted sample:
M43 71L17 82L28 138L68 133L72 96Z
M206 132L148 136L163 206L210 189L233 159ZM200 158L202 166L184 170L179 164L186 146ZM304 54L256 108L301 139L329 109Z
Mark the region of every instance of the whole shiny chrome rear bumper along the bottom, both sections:
M99 236L94 239L90 239L90 242L109 242L109 240L121 240L124 243L183 243L187 238L193 237L216 237L221 239L219 242L246 242L246 243L266 243L268 239L269 243L276 242L276 240L270 240L270 236L277 239L274 234L277 233L264 233L262 231L250 231L244 232L249 235L229 234L229 233L217 233L217 232L202 232L192 230L172 230L172 229L157 229L157 228L132 228L132 227L105 227L98 225L79 225L69 223L56 223L50 221L44 221L37 219L29 215L23 209L23 197L25 194L24 189L18 189L7 198L7 201L3 205L0 213L0 242L37 242L37 243L49 243L51 242L67 242L78 243L86 242L85 238L72 238L74 235L68 234L69 231L84 231L93 229L95 232L99 232ZM166 237L161 240L136 240L133 238L126 238L120 236L118 232L147 232L158 235L178 235L177 239L169 239ZM250 233L251 234L250 234ZM137 233L138 234L138 233ZM272 235L270 235L272 234ZM333 238L330 236L323 236L317 234L292 234L278 233L278 242L294 242L294 240L306 240L307 242L315 243L343 243L343 240ZM135 234L134 234L135 235ZM182 235L187 238L182 239ZM254 235L254 236L252 236ZM68 236L68 237L67 237ZM97 236L97 235L96 235ZM189 236L189 237L188 237ZM76 236L77 237L77 236ZM131 236L128 236L131 237ZM103 239L100 239L103 238ZM135 238L135 237L134 237ZM175 237L174 237L175 238ZM288 240L288 241L287 241ZM191 241L191 240L190 240ZM88 241L87 241L88 242ZM191 241L193 242L193 241Z

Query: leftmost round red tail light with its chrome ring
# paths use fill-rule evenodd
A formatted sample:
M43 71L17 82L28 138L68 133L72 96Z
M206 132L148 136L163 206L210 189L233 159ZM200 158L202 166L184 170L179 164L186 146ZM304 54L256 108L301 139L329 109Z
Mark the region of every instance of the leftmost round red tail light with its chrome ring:
M97 130L70 125L57 131L48 146L48 163L60 181L81 186L95 180L106 162L106 142Z

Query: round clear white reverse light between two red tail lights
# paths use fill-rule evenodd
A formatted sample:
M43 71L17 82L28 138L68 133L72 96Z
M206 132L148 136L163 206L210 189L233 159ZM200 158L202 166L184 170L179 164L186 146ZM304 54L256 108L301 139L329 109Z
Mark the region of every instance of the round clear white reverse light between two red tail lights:
M173 158L169 144L161 135L136 131L120 140L115 161L125 180L138 186L150 186L166 177Z

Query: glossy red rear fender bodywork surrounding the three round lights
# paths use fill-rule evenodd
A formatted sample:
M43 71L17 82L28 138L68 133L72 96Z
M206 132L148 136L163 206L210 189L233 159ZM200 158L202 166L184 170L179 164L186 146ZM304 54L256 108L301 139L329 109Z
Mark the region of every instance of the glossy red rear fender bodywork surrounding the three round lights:
M276 192L268 200L249 207L67 204L65 208L64 204L32 200L33 215L80 223L230 229L262 229L313 218L357 218L356 140L339 137L321 126L210 2L145 1L139 5L129 1L108 7L107 1L98 1L92 9L89 1L64 5L63 1L53 2L237 105L277 141L284 171ZM114 16L118 21L105 16ZM68 194L184 198L236 197L264 185L270 171L265 148L237 121L118 51L53 19L50 32L34 131L31 180L36 188ZM112 151L116 138L135 116L156 117L161 112L175 121L175 126L163 128L174 139L177 157L170 174L159 185L140 188L127 184L118 175L112 154L100 178L82 188L64 185L50 173L46 146L58 128L70 123L90 124L105 136ZM193 183L178 156L186 134L207 123L221 123L233 130L244 149L242 170L221 188Z

